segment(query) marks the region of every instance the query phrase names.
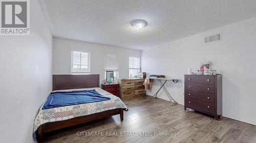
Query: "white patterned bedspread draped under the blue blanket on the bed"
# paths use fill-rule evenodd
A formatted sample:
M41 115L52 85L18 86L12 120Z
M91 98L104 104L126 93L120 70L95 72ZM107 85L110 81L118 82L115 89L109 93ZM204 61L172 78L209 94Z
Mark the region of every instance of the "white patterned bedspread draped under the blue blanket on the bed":
M92 90L92 89L95 89L101 95L105 97L109 97L111 99L106 101L100 101L100 102L70 105L70 106L56 107L56 108L50 108L50 109L42 109L42 106L41 106L34 121L34 128L33 128L34 140L36 141L37 128L40 125L48 122L68 120L75 117L91 115L93 113L116 109L116 108L123 108L126 111L128 110L125 104L120 100L120 98L100 88L74 89L74 90L61 90L61 91ZM54 92L57 92L57 91L54 91Z

